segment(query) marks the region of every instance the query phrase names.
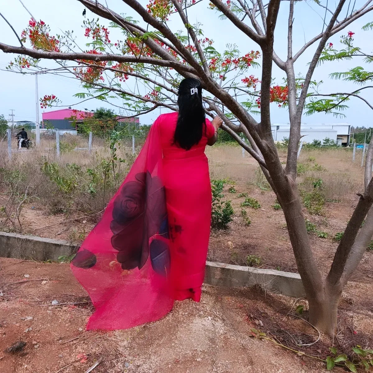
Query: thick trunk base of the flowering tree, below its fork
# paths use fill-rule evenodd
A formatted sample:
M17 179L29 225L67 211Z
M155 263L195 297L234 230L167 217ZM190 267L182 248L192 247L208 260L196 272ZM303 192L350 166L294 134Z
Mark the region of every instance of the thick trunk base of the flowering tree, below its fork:
M335 335L337 331L337 314L339 298L342 294L342 286L331 288L325 284L323 291L315 298L308 298L309 322L320 333Z

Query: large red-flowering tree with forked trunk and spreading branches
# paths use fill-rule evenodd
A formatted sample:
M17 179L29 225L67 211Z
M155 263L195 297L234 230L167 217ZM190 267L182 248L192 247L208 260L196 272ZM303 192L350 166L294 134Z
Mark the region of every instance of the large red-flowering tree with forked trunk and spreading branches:
M223 118L223 129L257 160L276 193L307 294L310 323L321 332L334 333L342 288L356 269L373 235L373 142L367 155L365 191L345 229L327 276L323 276L317 267L305 227L295 180L297 150L308 90L316 85L312 76L325 51L327 40L373 10L373 0L368 0L359 9L350 9L348 4L345 5L345 0L339 0L333 9L328 4L315 1L313 6L323 11L322 30L296 52L293 51L294 0L269 0L265 4L262 0L253 0L251 3L245 0L211 0L211 11L217 13L220 19L231 22L239 36L256 43L260 49L244 53L240 53L234 45L217 51L213 41L203 36L200 24L189 23L188 12L195 6L201 12L204 4L201 1L151 0L144 7L137 0L123 0L127 9L136 12L142 19L142 25L97 1L77 1L110 21L111 31L101 25L98 19L85 20L89 49L82 51L82 48L75 46L72 31L51 36L50 27L33 17L21 37L17 35L20 47L0 43L0 49L4 52L19 54L9 68L23 73L28 69L31 72L46 72L47 69L40 66L40 61L55 60L55 73L70 72L82 82L85 92L79 93L79 97L84 100L99 97L104 101L119 97L124 101L127 112L134 115L150 112L159 106L176 110L178 82L182 77L198 77L206 91L203 99L207 114L217 114ZM280 4L288 12L288 21L282 25L288 30L288 45L283 59L274 50ZM342 16L342 11L345 16ZM171 30L170 18L181 21L183 30ZM112 43L109 32L118 30L123 40ZM31 47L25 47L23 43L26 42ZM295 63L311 46L314 47L314 54L307 65L307 72L305 76L297 76ZM257 78L252 69L259 65L260 57L261 76ZM273 63L285 75L283 85L273 85ZM48 69L48 72L51 70ZM137 85L133 89L126 88L131 77L136 84L142 84L143 89L147 90L146 94L141 94ZM290 137L285 167L281 164L272 138L271 103L289 110ZM50 101L44 104L48 105ZM260 114L260 121L255 120L253 114L256 113ZM248 142L241 138L241 133ZM366 222L360 229L365 218Z

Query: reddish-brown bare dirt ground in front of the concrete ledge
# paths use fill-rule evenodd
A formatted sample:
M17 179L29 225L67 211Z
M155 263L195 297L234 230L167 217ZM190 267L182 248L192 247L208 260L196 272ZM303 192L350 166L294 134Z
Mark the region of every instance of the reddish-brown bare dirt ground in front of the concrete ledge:
M340 317L350 320L346 338L357 334L364 342L373 335L372 290L368 284L347 286L340 307ZM158 322L86 332L92 306L67 264L0 258L0 372L84 373L97 361L94 373L324 372L322 361L253 333L258 324L270 333L270 320L285 319L293 302L257 289L204 286L201 303L176 302ZM315 338L304 322L288 319L290 327ZM22 351L5 351L19 341L26 343ZM325 358L332 343L316 345L317 354Z

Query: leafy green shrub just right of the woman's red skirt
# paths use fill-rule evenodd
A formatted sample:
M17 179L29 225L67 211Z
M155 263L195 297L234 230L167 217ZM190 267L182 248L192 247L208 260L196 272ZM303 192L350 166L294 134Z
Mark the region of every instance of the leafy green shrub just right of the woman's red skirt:
M233 220L234 211L231 202L222 201L224 184L225 181L223 180L213 180L211 182L211 228L213 229L228 229L228 224Z

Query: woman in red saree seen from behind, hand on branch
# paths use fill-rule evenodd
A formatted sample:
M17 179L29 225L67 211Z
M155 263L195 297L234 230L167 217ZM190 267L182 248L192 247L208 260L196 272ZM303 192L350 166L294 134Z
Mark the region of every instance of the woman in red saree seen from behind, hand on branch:
M72 261L96 308L87 329L126 329L199 301L210 235L205 118L197 79L179 86L179 113L160 115L128 176Z

